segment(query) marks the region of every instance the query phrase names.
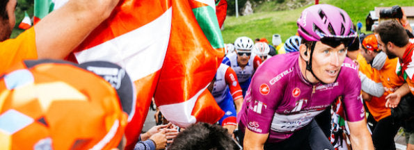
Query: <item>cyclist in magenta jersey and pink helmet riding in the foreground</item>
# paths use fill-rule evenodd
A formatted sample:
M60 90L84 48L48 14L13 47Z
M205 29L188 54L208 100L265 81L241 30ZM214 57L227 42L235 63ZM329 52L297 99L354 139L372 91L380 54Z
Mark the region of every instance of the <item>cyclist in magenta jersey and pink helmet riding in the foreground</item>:
M255 72L238 115L245 149L333 149L313 119L342 96L353 149L374 149L360 99L355 40L347 12L310 6L297 21L299 53L266 60ZM244 138L243 138L244 137Z

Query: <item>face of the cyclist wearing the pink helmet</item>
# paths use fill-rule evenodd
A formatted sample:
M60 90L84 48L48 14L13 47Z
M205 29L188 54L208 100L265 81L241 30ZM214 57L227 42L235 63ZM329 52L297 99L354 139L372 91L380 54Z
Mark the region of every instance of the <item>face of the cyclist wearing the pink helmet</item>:
M346 57L347 49L344 44L333 48L317 42L312 55L312 70L322 82L333 83Z

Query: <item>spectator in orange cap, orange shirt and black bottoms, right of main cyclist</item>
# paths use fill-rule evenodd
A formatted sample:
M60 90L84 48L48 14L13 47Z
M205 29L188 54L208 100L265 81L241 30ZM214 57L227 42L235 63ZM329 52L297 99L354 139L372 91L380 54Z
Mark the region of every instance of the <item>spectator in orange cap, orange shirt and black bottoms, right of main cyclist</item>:
M372 97L370 101L365 101L369 113L374 118L369 121L375 124L372 130L372 142L375 149L395 149L394 137L401 124L397 118L393 117L391 109L385 107L385 97L404 84L404 78L395 74L398 58L389 59L378 48L374 34L367 35L363 40L361 54L374 68L374 74L371 78L376 82L381 82L385 90L381 97Z

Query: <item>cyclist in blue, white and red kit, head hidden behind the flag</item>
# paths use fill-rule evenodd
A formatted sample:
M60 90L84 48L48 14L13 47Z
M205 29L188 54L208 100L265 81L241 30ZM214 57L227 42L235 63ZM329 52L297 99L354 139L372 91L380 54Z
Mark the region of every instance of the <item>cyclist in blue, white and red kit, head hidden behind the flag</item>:
M243 103L243 95L241 95L236 73L228 65L221 64L208 89L212 92L218 106L224 111L224 116L221 117L218 123L227 128L228 133L232 134L237 127L236 117Z

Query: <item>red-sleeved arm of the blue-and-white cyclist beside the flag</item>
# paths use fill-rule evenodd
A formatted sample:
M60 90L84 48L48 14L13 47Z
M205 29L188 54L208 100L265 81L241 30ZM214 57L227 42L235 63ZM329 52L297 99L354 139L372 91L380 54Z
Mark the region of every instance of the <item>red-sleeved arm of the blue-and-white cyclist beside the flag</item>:
M236 105L237 113L241 110L241 104L243 103L243 94L237 80L236 72L231 67L228 67L225 71L225 83L227 83L230 94L232 94L234 104Z

